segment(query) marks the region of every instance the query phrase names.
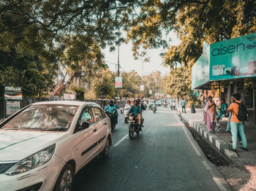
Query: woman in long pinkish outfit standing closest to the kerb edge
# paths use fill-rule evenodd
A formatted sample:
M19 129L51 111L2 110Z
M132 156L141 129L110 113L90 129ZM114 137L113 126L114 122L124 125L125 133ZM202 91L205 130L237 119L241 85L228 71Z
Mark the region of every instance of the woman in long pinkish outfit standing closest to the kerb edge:
M210 133L213 133L217 117L216 117L216 104L214 103L212 96L208 97L208 101L206 102L205 106L205 112L206 112L206 125L207 129Z

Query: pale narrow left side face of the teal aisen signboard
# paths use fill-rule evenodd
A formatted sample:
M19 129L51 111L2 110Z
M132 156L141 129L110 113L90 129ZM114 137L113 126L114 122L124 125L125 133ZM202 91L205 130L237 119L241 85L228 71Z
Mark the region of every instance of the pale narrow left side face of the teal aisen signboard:
M192 66L192 89L196 89L196 87L203 85L209 80L208 51L208 44L203 42L203 53L194 66Z

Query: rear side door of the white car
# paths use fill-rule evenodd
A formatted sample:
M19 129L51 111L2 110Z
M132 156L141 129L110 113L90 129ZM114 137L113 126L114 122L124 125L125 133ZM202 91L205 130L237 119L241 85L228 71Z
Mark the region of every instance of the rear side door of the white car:
M108 133L110 122L106 117L105 112L102 109L100 109L97 106L94 106L93 109L94 109L95 128L97 129L97 131L95 132L95 136L97 137L97 140L98 140L96 152L101 152L105 144L105 139Z

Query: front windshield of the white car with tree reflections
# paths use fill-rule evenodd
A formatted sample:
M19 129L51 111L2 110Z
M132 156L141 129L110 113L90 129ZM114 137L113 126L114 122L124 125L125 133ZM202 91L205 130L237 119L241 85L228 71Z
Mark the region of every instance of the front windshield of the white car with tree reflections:
M31 105L1 129L66 131L77 110L78 106Z

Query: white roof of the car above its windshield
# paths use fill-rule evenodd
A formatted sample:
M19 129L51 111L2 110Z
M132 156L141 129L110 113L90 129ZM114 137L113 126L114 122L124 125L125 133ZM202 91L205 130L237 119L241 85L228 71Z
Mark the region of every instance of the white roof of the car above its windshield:
M85 102L85 101L40 101L34 103L32 105L67 105L67 106L82 106L82 105L94 105L99 106L93 102Z

